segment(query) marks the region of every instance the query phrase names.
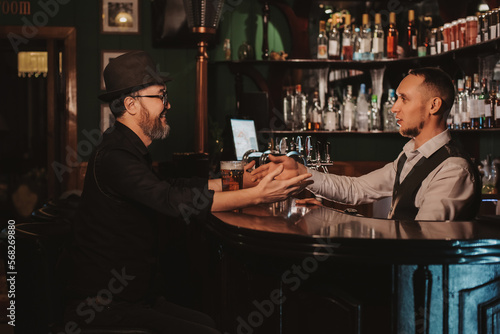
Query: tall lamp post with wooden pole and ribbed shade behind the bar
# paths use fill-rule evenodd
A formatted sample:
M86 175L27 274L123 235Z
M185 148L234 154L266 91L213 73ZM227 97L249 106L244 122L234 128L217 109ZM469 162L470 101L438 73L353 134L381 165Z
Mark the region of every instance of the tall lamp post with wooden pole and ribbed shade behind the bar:
M190 31L198 40L196 54L195 151L208 149L207 46L217 31L224 0L184 0Z

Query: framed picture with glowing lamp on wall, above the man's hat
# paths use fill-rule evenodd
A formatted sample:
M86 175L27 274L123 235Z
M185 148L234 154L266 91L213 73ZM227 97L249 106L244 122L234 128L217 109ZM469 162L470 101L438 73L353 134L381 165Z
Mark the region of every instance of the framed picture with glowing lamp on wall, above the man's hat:
M139 34L139 0L101 0L101 33Z

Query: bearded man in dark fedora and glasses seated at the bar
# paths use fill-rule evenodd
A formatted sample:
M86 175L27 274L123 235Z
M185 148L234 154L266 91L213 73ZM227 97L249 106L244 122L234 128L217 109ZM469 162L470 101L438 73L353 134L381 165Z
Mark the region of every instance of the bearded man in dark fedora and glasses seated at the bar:
M221 191L220 179L162 180L147 147L168 135L169 80L142 51L117 57L104 70L106 93L99 98L110 104L116 122L88 162L74 226L67 317L79 326L218 333L210 317L169 303L155 291L158 224L175 218L203 222L210 211L283 200L305 187L310 176L275 180L282 171L277 169L232 192ZM159 222L157 214L167 218Z

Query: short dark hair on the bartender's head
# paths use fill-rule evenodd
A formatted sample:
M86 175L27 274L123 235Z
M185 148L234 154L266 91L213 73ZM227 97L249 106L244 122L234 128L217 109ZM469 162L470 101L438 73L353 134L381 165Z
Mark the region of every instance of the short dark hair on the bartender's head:
M448 73L438 67L422 67L411 69L408 74L424 78L422 85L433 92L434 96L441 98L443 101L441 110L443 115L447 116L455 101L455 85Z

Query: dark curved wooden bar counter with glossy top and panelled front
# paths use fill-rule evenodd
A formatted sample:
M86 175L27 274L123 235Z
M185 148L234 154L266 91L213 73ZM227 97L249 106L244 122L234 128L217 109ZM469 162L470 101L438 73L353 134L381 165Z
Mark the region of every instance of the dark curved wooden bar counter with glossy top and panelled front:
M211 307L227 333L496 333L490 218L373 219L292 199L214 213Z

